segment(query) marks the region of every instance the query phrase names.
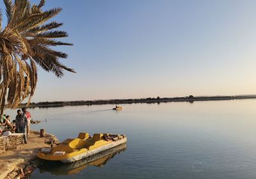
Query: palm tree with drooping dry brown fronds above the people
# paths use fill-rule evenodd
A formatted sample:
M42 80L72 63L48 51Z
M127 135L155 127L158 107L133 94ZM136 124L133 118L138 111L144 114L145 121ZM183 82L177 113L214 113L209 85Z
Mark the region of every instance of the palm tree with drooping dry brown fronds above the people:
M74 72L60 63L60 59L67 58L67 54L51 49L58 45L72 45L54 40L68 36L65 31L54 30L62 23L48 22L61 12L61 8L44 11L45 0L33 5L28 0L4 0L4 4L7 16L4 28L0 12L1 115L5 104L15 108L28 98L29 105L36 89L36 66L53 72L57 77L62 77L64 70Z

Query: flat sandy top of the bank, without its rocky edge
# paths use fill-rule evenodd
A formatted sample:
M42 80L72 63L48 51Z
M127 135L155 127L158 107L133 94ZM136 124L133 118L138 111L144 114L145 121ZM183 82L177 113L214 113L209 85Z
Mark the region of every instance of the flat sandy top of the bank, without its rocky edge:
M18 150L9 150L0 154L0 178L6 178L6 176L12 171L17 171L24 168L28 164L29 160L36 159L36 153L41 148L50 147L51 141L56 140L56 137L51 134L45 134L45 137L40 137L40 132L31 131L28 144L22 144ZM12 177L7 177L12 178Z

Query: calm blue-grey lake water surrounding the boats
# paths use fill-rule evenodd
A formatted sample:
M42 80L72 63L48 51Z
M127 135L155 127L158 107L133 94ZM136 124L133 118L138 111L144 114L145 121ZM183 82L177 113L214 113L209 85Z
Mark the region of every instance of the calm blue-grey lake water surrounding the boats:
M46 163L31 178L256 178L256 100L122 106L29 109L47 119L32 128L60 141L79 132L128 137L126 149L102 162Z

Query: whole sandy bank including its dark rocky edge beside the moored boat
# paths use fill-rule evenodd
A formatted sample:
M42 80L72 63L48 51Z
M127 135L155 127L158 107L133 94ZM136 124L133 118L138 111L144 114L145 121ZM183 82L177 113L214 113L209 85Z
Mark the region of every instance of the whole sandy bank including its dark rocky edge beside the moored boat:
M28 144L22 144L18 150L7 150L0 154L0 178L23 178L38 167L36 154L41 148L51 147L51 141L58 143L52 134L40 137L40 132L31 131Z

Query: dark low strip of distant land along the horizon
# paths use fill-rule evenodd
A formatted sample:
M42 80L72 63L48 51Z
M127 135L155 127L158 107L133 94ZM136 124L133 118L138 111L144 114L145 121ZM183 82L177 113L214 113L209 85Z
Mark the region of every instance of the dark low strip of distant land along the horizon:
M67 105L102 105L102 104L138 104L138 103L161 103L161 102L195 102L195 101L212 101L212 100L241 100L253 99L256 95L236 95L236 96L212 96L212 97L175 97L175 98L138 98L138 99L115 99L115 100L79 100L79 101L58 101L58 102L38 102L31 103L29 108L34 107L63 107ZM21 104L24 107L26 104Z

